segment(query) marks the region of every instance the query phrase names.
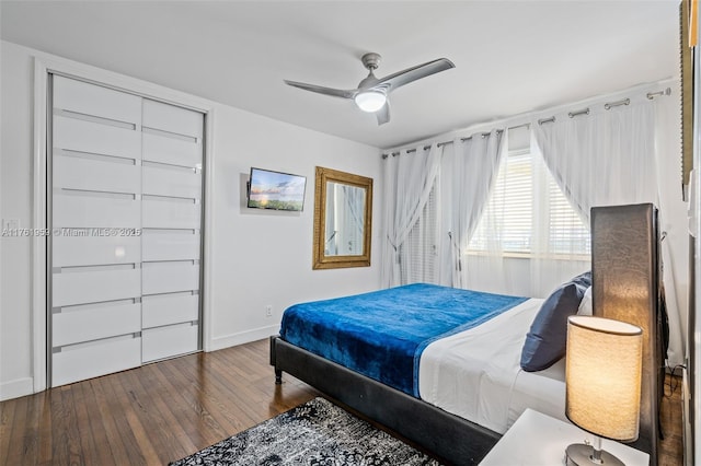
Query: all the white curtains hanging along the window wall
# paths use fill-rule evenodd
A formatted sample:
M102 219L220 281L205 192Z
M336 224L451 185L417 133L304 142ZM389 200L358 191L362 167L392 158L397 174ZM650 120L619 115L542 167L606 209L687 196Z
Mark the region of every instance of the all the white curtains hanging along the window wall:
M593 100L586 112L576 109L572 116L572 108L567 108L528 119L532 119L533 170L540 170L536 164L542 158L543 173L550 172L586 228L591 206L654 202L659 207L662 230L668 233L662 253L670 324L669 363L677 364L685 354L681 335L689 286L683 276L679 276L679 284L675 277L675 270L688 269L686 207L680 193L677 199L668 188L679 183L679 174L671 173L679 163L679 115L674 97L646 96L646 91L658 91L654 88L630 90L623 95L628 101L609 95L606 102L614 105L608 109L604 100ZM554 120L537 119L551 115ZM519 123L528 119L520 117ZM555 254L543 241L550 212L538 199L533 218L542 226L536 228L533 254L504 257L498 219L485 213L484 205L505 159L507 138L507 133L492 131L486 138L476 135L445 145L434 143L429 149L403 150L386 159L383 287L418 277L453 287L545 296L556 284L588 268L586 259L570 257L566 251ZM463 254L478 222L495 233L484 235L482 253Z

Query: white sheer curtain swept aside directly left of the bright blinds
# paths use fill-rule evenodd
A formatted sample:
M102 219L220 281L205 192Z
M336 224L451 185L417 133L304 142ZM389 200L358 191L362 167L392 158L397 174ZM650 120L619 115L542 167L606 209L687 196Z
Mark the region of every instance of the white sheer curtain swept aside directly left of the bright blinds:
M495 255L466 255L468 242L476 228L490 198L503 156L503 130L472 135L456 139L446 148L443 172L446 186L440 206L444 214L444 243L441 254L444 284L456 288L491 290L481 283L486 275L499 276L501 258Z

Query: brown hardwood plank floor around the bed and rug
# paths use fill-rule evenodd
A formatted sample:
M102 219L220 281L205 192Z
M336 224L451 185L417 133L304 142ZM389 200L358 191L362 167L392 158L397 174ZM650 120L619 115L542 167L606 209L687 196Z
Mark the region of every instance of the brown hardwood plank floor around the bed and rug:
M0 464L164 465L319 395L284 380L261 340L2 401ZM662 405L664 466L682 464L679 392Z

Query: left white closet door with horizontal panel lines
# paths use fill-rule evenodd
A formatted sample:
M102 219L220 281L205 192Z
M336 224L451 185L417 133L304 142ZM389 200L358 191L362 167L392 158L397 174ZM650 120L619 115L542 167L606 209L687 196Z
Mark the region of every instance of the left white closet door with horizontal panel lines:
M54 77L51 384L141 364L141 98Z

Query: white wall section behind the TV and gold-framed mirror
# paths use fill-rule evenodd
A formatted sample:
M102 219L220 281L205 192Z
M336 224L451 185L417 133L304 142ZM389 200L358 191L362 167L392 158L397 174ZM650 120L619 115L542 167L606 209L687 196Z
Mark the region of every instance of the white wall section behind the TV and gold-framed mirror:
M314 166L369 176L374 223L380 215L379 150L255 117L230 107L216 113L214 168L212 349L277 330L290 304L379 287L379 229L372 231L370 269L312 270ZM307 176L301 214L242 206L242 177L251 165ZM274 318L265 317L273 305Z

